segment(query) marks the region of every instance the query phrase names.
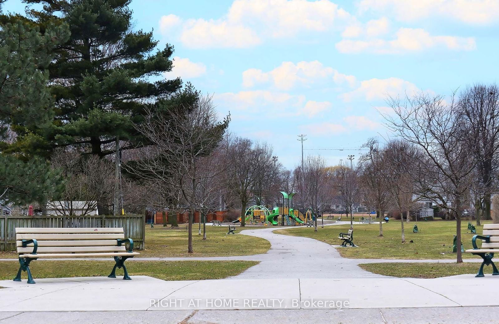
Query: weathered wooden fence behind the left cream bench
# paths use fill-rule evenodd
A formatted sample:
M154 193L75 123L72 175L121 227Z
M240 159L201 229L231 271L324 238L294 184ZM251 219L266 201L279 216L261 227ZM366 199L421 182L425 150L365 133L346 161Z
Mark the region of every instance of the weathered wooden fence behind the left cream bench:
M15 251L15 227L123 227L125 238L133 239L135 248L144 249L144 215L85 216L0 216L0 251Z

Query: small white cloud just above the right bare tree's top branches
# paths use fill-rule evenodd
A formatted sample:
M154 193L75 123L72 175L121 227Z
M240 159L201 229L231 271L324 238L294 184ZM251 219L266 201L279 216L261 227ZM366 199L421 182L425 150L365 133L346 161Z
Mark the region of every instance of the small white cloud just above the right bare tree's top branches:
M372 101L383 100L387 96L395 97L405 93L412 95L418 91L416 85L399 78L370 79L362 81L360 87L343 94L341 97L345 102L355 99Z

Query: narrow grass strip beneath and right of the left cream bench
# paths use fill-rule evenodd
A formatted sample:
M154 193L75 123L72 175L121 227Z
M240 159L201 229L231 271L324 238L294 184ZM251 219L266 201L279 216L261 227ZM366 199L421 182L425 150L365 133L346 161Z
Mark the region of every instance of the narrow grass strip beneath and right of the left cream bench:
M258 264L256 261L128 261L128 274L150 276L163 280L206 280L235 276ZM108 276L114 261L34 261L29 265L37 278L97 277ZM0 280L12 280L19 263L0 261ZM123 276L123 269L116 269L116 277ZM22 279L27 279L22 272Z

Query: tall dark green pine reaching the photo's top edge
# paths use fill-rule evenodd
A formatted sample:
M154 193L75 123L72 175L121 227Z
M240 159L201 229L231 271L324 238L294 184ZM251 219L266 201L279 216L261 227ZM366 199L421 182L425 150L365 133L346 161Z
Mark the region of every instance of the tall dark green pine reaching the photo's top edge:
M56 122L43 134L47 152L76 145L104 157L114 152L117 138L121 150L140 145L134 123L143 120L145 106L168 100L182 88L179 78L163 77L172 69L173 46L155 50L152 31L132 31L130 0L24 2L43 4L41 10L27 11L41 30L64 22L70 29L49 65ZM191 88L180 96L191 102L196 97Z

